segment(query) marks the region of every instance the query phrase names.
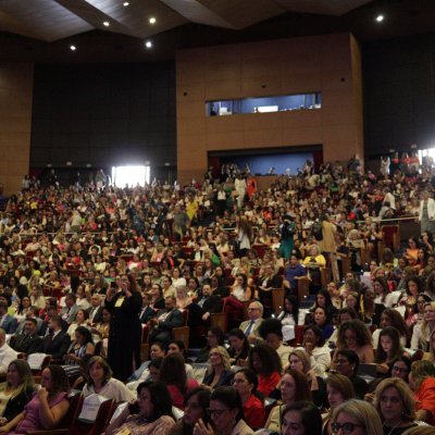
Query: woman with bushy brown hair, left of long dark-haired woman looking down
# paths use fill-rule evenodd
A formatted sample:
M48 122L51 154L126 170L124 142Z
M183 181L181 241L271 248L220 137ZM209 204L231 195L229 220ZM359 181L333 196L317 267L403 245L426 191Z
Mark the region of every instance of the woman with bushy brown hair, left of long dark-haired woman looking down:
M370 331L359 320L351 320L339 325L337 348L353 350L358 355L361 363L371 363L374 361Z

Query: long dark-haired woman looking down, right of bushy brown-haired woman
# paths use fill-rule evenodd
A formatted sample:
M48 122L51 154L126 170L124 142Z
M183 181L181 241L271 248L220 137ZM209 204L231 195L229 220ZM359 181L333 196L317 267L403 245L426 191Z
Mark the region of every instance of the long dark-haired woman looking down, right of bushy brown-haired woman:
M400 345L399 332L394 326L384 327L380 334L375 363L378 373L388 374L399 357L409 357Z

